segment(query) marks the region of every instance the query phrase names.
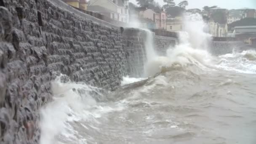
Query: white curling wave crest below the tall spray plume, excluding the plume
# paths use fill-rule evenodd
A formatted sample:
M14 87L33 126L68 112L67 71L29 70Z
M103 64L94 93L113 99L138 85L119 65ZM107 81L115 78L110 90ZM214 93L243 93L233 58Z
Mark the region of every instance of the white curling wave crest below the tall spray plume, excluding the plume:
M211 54L205 50L192 48L189 44L177 45L173 49L169 48L166 53L166 56L158 56L148 61L145 66L147 77L173 70L202 72L213 69L208 64L212 58Z

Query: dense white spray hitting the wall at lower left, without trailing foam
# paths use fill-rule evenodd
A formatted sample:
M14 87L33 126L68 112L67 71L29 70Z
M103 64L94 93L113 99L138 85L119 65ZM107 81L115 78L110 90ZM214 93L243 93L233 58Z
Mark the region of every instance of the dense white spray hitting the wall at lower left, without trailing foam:
M76 115L96 105L96 101L89 94L91 91L96 91L96 88L70 81L61 83L62 76L60 75L52 82L53 101L40 110L40 144L56 144L58 141L56 137L61 133L74 137L72 131L67 131L69 120L82 118L83 115L80 117ZM78 93L78 91L83 91L83 93Z

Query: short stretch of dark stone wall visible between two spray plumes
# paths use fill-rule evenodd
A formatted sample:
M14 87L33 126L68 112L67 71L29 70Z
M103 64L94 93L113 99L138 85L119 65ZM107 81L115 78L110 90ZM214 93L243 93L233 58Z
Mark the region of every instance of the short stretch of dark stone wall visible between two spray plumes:
M173 48L178 42L174 37L163 37L160 35L155 35L155 48L160 56L165 56L166 50L168 48Z

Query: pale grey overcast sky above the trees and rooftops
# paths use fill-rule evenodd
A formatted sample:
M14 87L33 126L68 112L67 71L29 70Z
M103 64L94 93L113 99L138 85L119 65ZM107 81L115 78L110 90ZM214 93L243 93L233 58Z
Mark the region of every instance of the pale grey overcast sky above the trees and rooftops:
M165 4L163 0L155 0L160 5ZM182 0L174 0L176 5ZM213 6L217 5L221 8L227 9L238 9L238 8L254 8L256 9L256 0L187 0L189 5L187 8L200 8L202 9L205 5ZM130 0L130 2L136 4L136 0ZM186 9L187 9L186 8Z

